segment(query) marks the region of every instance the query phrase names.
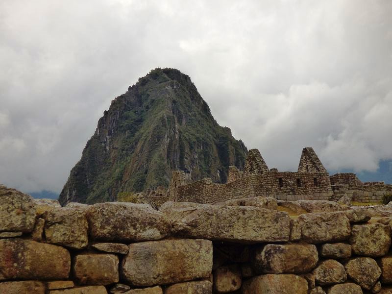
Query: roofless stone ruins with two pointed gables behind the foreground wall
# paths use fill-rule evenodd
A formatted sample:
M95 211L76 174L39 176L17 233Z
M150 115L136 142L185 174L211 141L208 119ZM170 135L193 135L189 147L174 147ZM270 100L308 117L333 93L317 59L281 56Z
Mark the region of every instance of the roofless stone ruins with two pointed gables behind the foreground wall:
M376 202L392 191L384 182L362 183L354 173L332 176L312 147L302 149L297 172L269 169L258 149L250 149L244 171L229 167L227 183L211 178L187 183L184 171L175 171L169 190L158 187L148 196L158 206L166 201L218 204L230 199L271 196L278 200L335 200L344 194L352 201Z

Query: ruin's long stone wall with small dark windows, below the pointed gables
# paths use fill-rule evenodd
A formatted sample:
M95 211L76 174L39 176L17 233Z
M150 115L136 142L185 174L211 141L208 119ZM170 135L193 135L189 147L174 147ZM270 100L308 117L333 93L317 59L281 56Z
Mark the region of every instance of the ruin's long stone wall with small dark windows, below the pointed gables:
M328 173L264 172L231 179L226 184L214 184L207 178L183 185L176 188L176 196L171 200L214 204L255 196L272 196L279 200L326 200L332 195Z

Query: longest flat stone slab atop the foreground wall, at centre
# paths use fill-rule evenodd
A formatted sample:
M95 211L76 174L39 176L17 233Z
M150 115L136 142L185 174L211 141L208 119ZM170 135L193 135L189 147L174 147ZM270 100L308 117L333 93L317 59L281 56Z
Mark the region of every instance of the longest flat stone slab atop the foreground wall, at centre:
M160 209L178 236L237 243L288 241L287 213L251 206L166 202Z

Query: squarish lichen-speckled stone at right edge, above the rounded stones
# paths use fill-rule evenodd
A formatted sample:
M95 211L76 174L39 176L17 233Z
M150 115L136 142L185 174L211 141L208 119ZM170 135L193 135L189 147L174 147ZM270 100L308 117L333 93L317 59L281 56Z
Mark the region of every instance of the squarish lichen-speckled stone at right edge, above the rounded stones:
M386 255L391 246L390 228L381 223L355 224L350 243L357 255L378 257Z

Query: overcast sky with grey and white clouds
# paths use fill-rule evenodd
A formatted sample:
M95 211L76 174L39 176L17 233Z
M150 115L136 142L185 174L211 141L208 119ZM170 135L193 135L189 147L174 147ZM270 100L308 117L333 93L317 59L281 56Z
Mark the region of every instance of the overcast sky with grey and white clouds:
M1 0L0 183L59 193L112 99L188 74L270 168L392 159L391 0ZM390 169L391 171L391 169Z

